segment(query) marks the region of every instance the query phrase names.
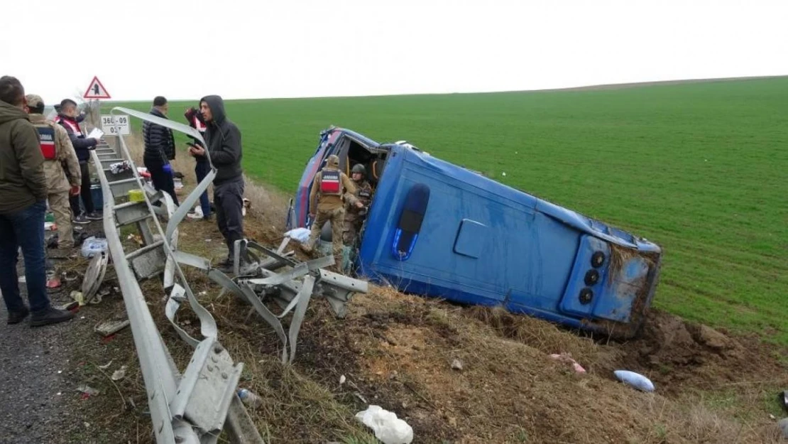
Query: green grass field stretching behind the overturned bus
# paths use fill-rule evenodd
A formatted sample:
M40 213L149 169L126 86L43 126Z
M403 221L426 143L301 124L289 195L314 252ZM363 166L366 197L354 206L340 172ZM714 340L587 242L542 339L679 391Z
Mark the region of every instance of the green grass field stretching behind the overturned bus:
M171 118L184 121L185 105L172 103ZM227 110L247 173L288 194L329 125L408 140L656 241L657 307L788 345L788 78Z

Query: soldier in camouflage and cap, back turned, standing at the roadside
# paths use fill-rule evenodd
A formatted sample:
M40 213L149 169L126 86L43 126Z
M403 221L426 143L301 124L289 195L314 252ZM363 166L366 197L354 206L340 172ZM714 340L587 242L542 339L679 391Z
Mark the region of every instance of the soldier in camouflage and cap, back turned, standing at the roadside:
M58 225L58 248L72 248L74 235L71 229L70 196L79 196L82 173L76 151L69 133L43 115L44 101L39 95L29 94L28 114L30 122L39 132L41 152L44 155L47 200ZM64 170L65 168L65 170Z

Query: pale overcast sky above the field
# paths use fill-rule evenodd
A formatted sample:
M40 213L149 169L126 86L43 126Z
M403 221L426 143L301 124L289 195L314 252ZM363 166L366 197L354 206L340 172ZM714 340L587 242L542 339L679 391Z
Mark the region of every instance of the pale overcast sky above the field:
M150 100L788 74L786 0L36 0L10 8L0 75L19 77L49 104L84 92L93 76L113 99Z

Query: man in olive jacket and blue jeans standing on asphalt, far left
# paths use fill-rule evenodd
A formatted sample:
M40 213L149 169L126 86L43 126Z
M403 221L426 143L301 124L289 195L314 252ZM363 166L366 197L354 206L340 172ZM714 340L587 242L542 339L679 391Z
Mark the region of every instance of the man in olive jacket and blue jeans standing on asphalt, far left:
M12 76L0 77L0 292L8 323L32 312L31 326L61 323L72 312L50 305L46 294L44 213L46 175L38 132L24 111L24 88ZM17 250L22 248L30 308L19 293Z

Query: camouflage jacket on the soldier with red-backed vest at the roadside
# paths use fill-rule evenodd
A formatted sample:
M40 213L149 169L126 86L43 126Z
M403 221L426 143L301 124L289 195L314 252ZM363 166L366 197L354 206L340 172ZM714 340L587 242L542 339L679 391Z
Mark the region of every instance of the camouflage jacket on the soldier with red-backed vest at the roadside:
M47 121L43 114L30 114L30 122L38 128L54 129L55 159L44 160L46 173L46 189L52 192L69 191L72 186L82 183L80 162L76 159L76 151L69 139L69 132L52 121Z

